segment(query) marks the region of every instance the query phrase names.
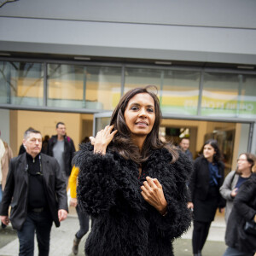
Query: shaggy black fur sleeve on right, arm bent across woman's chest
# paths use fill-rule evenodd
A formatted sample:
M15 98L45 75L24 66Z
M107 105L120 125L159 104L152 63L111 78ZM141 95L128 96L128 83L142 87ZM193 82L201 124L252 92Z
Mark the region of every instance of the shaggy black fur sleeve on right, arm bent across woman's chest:
M191 224L192 214L187 205L189 201L188 181L192 172L192 163L184 154L174 164L166 166L168 174L160 181L167 201L167 214L161 216L154 211L154 221L160 236L177 238L188 230Z

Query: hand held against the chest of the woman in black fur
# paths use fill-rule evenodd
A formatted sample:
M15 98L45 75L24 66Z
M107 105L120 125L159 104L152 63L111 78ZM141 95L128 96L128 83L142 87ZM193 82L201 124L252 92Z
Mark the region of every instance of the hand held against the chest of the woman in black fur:
M157 178L146 177L146 179L147 181L144 181L141 187L144 200L160 214L166 215L167 202L162 185Z

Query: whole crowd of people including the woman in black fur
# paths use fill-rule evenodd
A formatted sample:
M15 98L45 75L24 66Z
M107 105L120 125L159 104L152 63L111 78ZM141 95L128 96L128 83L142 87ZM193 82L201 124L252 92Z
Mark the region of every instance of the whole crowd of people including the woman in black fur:
M0 138L0 216L3 228L11 223L17 230L19 255L33 255L35 233L39 255L49 255L52 224L67 218L69 188L79 217L75 255L91 218L87 256L173 255L172 242L191 224L193 255L201 256L219 211L225 212L224 256L255 256L256 156L240 154L236 170L224 177L216 140L207 140L194 160L189 137L178 147L166 142L160 120L148 86L128 91L110 124L85 137L77 152L63 122L44 140L28 128L15 158Z

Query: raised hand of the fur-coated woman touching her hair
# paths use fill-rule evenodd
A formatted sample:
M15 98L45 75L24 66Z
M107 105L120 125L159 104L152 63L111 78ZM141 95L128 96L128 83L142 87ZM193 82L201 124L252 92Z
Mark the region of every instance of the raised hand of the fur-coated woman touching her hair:
M117 130L113 130L113 125L107 125L104 130L98 131L96 137L90 137L90 143L94 145L95 154L106 154L108 144L113 140Z

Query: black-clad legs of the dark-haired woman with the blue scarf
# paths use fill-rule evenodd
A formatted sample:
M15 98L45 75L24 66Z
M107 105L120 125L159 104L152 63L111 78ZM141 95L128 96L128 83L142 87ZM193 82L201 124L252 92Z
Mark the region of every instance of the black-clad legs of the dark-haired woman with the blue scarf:
M193 253L201 252L202 248L207 241L207 236L210 230L212 222L201 222L201 221L194 221L194 230L192 235L192 246L193 246Z

